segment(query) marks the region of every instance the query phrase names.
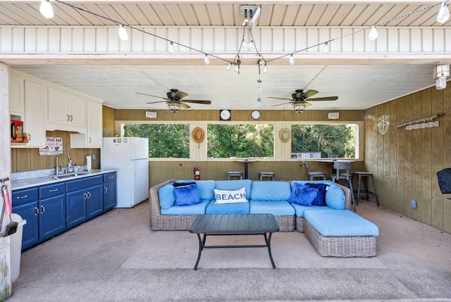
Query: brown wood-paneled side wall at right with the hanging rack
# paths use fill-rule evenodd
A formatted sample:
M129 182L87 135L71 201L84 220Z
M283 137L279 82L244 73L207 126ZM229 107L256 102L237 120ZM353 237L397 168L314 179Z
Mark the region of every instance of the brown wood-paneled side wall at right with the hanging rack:
M445 113L438 118L440 127L396 127L436 113ZM378 132L381 115L390 115L385 135ZM374 106L365 111L364 120L365 168L376 177L381 205L451 233L451 196L441 194L436 175L451 167L451 87L431 87Z

